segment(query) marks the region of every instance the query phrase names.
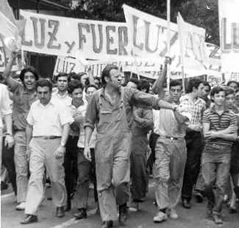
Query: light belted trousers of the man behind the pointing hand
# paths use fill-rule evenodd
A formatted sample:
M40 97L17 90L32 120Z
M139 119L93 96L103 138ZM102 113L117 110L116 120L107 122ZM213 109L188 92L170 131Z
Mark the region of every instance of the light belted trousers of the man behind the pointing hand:
M186 163L184 138L171 140L159 137L155 158L155 197L158 208L174 208L180 199Z

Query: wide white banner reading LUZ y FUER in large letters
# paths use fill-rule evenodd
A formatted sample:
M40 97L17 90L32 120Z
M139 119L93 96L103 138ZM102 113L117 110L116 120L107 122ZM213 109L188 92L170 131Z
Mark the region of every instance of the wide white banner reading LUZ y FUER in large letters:
M24 51L84 59L129 55L125 23L56 17L21 10Z

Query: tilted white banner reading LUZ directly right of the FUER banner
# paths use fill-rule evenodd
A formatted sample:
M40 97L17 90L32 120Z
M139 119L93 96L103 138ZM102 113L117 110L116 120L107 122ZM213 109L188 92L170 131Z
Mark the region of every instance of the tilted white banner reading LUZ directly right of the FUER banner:
M167 21L127 5L123 5L123 9L130 31L133 55L148 59L164 58L167 54ZM171 23L170 29L172 67L178 67L180 59L177 24Z

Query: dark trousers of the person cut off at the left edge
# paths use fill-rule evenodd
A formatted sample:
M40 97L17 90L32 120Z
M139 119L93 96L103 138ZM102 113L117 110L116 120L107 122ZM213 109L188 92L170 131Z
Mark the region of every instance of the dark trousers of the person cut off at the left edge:
M2 165L4 165L7 169L13 191L16 195L17 184L16 184L16 169L15 169L15 163L14 163L14 147L9 149L6 146L4 146L4 144L5 144L5 137L3 137Z

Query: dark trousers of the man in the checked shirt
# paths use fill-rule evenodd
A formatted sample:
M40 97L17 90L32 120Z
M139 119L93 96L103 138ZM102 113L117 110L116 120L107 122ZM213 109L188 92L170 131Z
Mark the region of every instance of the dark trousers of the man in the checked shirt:
M203 138L200 132L189 131L185 136L187 161L184 170L182 199L191 200L193 186L196 184L201 165Z

